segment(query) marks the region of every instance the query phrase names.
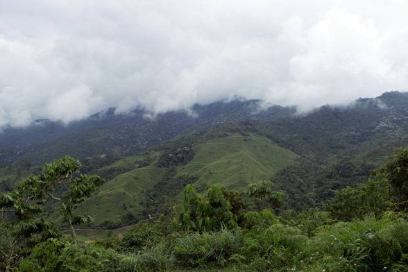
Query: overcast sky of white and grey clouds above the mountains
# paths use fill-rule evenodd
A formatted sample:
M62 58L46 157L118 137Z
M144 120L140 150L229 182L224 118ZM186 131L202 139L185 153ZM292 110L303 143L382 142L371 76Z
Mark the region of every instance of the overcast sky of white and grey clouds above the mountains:
M0 0L0 126L408 90L408 1Z

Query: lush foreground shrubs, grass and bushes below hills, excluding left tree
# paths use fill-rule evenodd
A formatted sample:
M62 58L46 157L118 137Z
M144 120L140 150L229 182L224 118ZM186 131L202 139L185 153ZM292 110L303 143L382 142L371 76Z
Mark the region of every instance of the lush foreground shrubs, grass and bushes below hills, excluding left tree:
M336 192L325 204L327 212L282 210L278 216L268 207L260 210L262 205L257 201L267 204L277 195L269 182L261 181L248 186L246 192L213 185L205 196L188 185L182 204L176 205L169 216L150 218L135 224L124 235L92 243L76 245L67 237L53 235L18 251L10 238L12 232L2 226L0 268L407 271L408 214L400 210L400 192L386 178L394 177L396 170L406 173L408 165L400 162L407 157L407 149L398 151L365 185ZM9 195L1 195L2 203L7 203ZM26 226L21 220L15 222ZM34 229L33 233L40 235L42 229ZM19 241L26 239L31 238L19 237ZM8 254L10 250L12 254Z

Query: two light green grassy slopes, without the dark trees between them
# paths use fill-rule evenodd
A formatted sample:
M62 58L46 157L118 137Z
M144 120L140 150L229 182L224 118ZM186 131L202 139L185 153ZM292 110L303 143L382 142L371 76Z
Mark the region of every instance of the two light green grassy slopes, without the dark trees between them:
M266 137L253 134L242 136L235 133L210 139L193 146L193 150L193 160L176 167L173 180L187 174L195 176L198 179L194 185L200 188L217 184L242 190L251 182L271 178L298 158L295 153L277 146ZM96 226L108 228L125 225L126 220L131 223L132 216L142 219L146 195L160 191L155 185L168 176L168 168L157 167L158 156L158 152L152 152L123 158L97 170L96 173L122 173L103 185L99 194L81 210L92 214ZM140 167L141 162L148 165ZM133 169L126 171L129 168ZM167 186L177 188L171 183ZM156 193L160 195L160 192Z

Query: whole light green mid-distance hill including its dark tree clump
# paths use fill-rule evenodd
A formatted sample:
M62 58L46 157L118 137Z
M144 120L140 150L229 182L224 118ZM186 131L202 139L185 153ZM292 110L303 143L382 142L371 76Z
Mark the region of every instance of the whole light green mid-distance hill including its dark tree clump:
M180 158L180 162L171 158ZM92 214L92 226L127 226L148 214L168 212L166 207L181 199L187 184L199 192L212 185L244 190L251 182L269 180L296 158L264 136L238 133L205 140L192 148L181 145L164 148L161 153L126 157L92 172L118 174L80 210Z

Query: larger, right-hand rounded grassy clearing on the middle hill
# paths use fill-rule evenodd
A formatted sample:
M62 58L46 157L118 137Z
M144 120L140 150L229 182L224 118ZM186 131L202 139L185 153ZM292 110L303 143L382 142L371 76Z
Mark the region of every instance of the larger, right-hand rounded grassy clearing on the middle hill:
M178 175L197 176L197 185L223 185L242 190L252 182L269 180L298 155L259 135L237 133L194 146L196 155L178 167Z

